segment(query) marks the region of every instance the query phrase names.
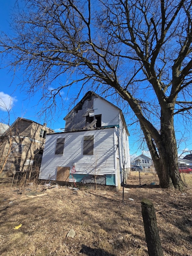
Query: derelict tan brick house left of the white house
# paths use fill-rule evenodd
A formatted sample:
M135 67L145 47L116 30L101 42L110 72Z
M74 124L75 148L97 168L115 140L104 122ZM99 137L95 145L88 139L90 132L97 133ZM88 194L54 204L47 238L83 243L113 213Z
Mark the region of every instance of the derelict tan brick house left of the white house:
M32 170L41 164L46 133L54 131L46 124L18 117L0 137L1 176Z

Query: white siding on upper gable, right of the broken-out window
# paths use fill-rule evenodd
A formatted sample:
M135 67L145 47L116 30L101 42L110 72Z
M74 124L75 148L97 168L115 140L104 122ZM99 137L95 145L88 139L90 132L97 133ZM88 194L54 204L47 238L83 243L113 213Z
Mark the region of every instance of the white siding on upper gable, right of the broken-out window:
M95 98L93 103L94 115L101 115L101 126L119 125L119 109L110 103Z

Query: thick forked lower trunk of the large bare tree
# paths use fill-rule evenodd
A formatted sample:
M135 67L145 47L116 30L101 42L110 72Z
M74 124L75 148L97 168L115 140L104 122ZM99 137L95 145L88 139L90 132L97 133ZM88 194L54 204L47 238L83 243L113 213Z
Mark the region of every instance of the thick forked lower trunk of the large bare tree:
M161 141L153 140L151 132L146 127L141 126L141 128L151 153L161 188L174 187L182 191L184 183L178 168L173 111L170 108L166 108L164 112L161 111Z

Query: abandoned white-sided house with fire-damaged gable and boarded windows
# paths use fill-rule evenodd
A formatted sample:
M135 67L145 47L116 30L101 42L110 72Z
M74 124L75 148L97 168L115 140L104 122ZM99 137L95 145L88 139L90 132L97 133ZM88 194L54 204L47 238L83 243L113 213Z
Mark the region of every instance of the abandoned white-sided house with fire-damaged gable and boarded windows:
M64 117L64 132L47 134L39 179L113 185L130 173L129 132L122 110L94 92Z

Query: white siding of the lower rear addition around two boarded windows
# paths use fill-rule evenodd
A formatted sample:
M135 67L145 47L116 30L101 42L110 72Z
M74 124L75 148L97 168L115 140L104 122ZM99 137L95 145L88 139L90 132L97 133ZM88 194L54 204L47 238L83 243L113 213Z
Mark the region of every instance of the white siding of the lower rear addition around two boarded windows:
M94 155L83 155L88 135L94 135ZM55 155L57 138L65 138L63 155ZM55 180L58 166L72 168L74 162L79 174L115 174L114 128L47 135L39 178Z

